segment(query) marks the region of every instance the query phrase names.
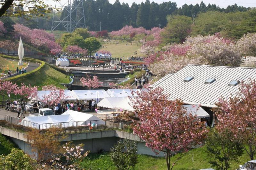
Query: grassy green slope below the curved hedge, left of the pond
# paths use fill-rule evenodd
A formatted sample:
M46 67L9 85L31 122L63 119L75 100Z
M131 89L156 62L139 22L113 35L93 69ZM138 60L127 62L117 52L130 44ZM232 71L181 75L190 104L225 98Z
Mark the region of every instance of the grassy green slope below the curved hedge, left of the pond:
M34 75L30 75L28 78L20 78L16 81L17 84L24 83L25 85L31 84L32 86L38 86L38 90L41 90L44 85L56 85L57 87L64 88L60 83L69 83L69 78L66 75L54 70L48 65L37 71Z

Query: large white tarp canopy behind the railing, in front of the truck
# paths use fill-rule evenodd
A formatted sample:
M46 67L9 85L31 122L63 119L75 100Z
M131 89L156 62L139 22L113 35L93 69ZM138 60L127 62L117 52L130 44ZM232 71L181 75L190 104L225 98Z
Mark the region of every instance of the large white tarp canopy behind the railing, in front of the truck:
M25 117L19 124L29 127L32 126L33 128L37 129L48 129L52 126L70 127L90 126L92 124L99 126L105 125L105 122L100 120L100 118L97 116L91 114L77 112L74 110L67 110L62 115L28 116Z

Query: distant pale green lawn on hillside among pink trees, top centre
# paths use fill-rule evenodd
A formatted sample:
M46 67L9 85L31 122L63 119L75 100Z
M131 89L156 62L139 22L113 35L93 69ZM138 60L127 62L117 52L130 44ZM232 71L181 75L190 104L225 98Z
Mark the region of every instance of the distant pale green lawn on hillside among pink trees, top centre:
M102 44L102 46L107 46L107 48L101 48L101 50L108 50L111 52L112 57L122 57L122 59L127 59L129 56L143 56L142 53L140 53L140 47L141 44L133 44L128 43L126 45L126 42L119 41L119 44L116 44L115 42L105 42ZM134 55L134 51L137 51L137 55ZM123 58L124 56L124 58Z

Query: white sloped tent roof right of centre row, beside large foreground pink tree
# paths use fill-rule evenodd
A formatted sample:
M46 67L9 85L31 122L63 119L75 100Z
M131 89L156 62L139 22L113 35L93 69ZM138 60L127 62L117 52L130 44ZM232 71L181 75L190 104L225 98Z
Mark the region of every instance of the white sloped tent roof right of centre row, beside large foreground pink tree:
M128 97L108 97L101 100L97 106L107 108L122 108L123 110L134 111L130 105L131 100Z

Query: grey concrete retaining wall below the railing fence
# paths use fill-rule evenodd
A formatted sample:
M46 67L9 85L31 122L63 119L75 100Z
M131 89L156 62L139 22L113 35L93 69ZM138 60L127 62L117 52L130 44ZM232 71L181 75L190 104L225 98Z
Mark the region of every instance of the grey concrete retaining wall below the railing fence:
M12 138L21 150L35 158L33 152L31 152L31 146L27 143L27 135L21 132L17 132L11 129L0 127L0 133ZM91 153L107 152L110 151L111 147L122 139L130 139L138 141L138 154L145 154L151 156L163 157L164 153L160 152L156 155L150 148L145 145L145 142L140 139L137 135L127 133L119 130L108 130L108 131L96 131L87 133L74 133L67 134L67 138L61 141L62 144L67 141L73 141L73 144L84 144L84 151L90 151Z

